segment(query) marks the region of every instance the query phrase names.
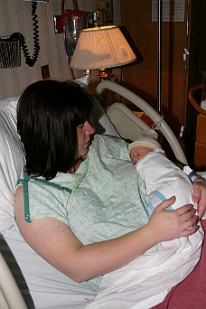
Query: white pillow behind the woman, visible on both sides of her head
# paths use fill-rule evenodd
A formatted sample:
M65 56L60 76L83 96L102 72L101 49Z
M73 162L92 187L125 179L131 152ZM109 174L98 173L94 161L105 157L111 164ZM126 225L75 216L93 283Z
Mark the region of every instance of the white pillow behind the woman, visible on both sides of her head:
M74 80L88 92L89 76ZM14 192L18 178L23 176L25 162L23 145L16 131L16 106L18 97L0 101L0 234L14 224ZM104 109L94 98L92 110L98 134L118 136Z

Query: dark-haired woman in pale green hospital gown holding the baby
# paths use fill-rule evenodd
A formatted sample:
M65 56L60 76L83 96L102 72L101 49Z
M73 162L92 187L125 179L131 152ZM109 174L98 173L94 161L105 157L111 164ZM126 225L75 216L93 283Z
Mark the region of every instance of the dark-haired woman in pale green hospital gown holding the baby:
M89 94L73 83L43 80L24 90L17 129L27 174L16 191L14 215L23 239L41 257L98 291L102 275L199 227L190 204L165 211L174 197L148 220L144 183L129 161L126 142L94 136L90 145L91 109ZM203 212L201 191L197 185Z

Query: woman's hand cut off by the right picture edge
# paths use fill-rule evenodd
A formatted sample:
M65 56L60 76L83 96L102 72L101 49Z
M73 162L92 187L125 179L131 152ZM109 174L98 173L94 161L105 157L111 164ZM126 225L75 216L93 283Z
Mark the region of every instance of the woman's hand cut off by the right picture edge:
M193 184L192 201L198 203L198 216L199 219L206 211L206 182L203 179L197 179Z

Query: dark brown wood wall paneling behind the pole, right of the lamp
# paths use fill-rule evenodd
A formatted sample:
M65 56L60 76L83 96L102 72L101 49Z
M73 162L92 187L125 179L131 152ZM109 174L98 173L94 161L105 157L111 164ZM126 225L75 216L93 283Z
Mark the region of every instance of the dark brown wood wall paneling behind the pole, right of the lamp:
M186 8L187 10L187 8ZM124 67L123 84L157 110L157 23L152 22L151 0L121 1L122 26L136 52L137 61ZM124 29L123 29L124 31ZM185 125L187 94L187 24L163 23L162 113L176 136Z

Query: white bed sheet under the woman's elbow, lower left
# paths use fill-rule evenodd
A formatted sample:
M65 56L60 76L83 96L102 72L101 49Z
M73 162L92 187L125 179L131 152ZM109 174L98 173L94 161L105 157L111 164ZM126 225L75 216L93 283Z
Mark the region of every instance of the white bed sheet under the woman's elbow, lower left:
M0 248L28 308L82 309L97 295L87 282L77 283L47 263L14 227L0 236Z

